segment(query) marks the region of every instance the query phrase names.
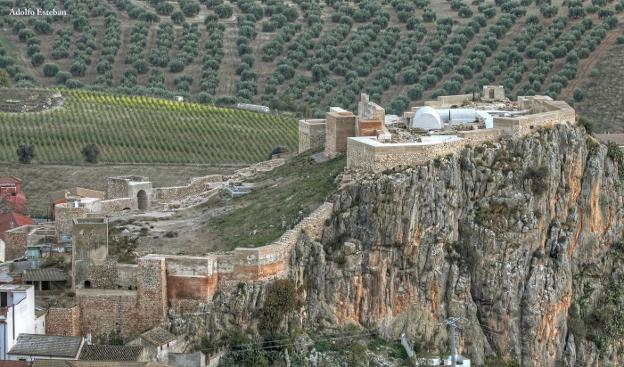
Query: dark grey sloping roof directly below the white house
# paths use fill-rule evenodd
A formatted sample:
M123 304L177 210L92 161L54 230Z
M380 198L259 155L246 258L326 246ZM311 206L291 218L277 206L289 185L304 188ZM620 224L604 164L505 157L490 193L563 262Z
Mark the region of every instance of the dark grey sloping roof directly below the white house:
M20 334L8 359L78 359L84 340L79 336Z

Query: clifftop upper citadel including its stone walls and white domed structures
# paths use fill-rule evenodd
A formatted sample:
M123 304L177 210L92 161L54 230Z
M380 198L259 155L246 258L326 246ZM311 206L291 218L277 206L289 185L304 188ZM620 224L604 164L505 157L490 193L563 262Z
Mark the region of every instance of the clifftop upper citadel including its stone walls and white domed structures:
M383 171L424 164L466 145L575 123L567 103L547 96L511 102L501 86L484 86L480 95L440 96L400 118L386 116L362 94L357 116L332 107L325 119L300 120L299 153L324 148L329 158L346 154L349 168Z

